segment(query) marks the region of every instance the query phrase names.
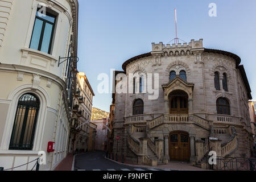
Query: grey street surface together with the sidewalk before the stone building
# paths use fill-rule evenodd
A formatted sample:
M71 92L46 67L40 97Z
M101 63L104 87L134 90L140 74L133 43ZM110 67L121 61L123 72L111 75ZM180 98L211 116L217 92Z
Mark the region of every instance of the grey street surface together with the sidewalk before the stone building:
M189 163L170 162L168 164L151 167L146 165L122 164L105 157L104 151L95 151L75 156L74 171L204 171L191 166Z

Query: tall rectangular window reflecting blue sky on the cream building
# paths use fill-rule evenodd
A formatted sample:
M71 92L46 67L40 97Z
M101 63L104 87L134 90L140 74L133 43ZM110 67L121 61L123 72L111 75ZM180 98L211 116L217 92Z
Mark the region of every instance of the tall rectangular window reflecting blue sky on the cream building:
M36 11L34 29L32 32L30 48L51 53L53 32L55 28L56 16L50 13L46 15Z

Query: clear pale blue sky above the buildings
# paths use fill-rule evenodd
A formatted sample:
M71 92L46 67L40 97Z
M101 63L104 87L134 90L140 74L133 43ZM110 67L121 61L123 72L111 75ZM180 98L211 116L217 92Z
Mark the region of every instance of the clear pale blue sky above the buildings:
M210 3L217 16L210 17ZM255 0L79 0L78 69L85 72L95 93L93 106L109 111L112 94L100 94L100 73L122 71L131 57L151 51L151 43L167 44L177 37L185 42L204 39L205 48L221 49L241 57L256 98ZM112 88L112 86L109 86Z

